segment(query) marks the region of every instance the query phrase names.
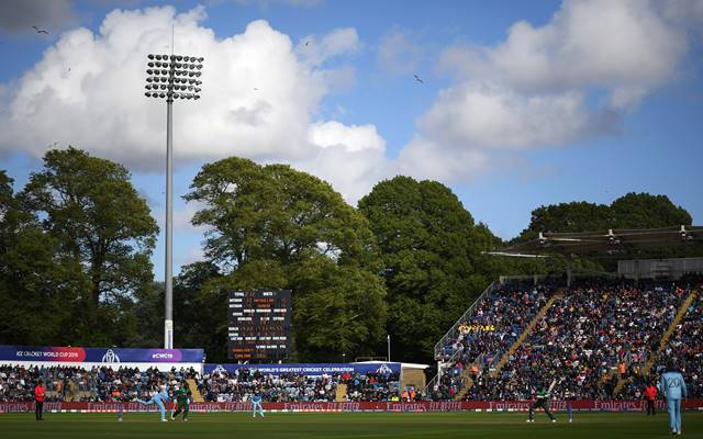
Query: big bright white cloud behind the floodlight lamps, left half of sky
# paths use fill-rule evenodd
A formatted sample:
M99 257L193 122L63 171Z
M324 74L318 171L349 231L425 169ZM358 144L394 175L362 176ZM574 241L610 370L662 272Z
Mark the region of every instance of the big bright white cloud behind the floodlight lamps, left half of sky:
M204 8L180 14L170 7L115 10L97 34L83 27L66 32L16 81L16 91L0 100L0 153L22 149L41 157L58 142L135 170L160 170L166 105L144 97L146 55L166 52L174 24L176 52L205 58L202 99L174 104L177 159L303 161L347 139L352 149L344 151L384 146L372 125L311 124L327 93L354 85L349 66L320 67L358 52L354 29L333 30L304 53L308 47L295 52L265 21L217 38L200 24L204 19ZM372 143L362 145L367 137Z

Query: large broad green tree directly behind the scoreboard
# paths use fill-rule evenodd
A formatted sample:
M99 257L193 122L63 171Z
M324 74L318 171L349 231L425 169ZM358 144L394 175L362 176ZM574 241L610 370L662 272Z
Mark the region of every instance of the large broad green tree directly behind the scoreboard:
M330 184L288 166L231 157L203 166L186 200L204 205L193 224L210 227L205 256L223 274L205 284L198 299L225 309L222 320L213 323L220 336L226 336L226 290L288 288L293 291L298 359L316 359L321 352L352 357L380 344L381 330L358 330L368 320L352 319L357 309L352 304L364 288L367 304L378 307L370 315L383 326L384 290L372 281L380 269L375 237L366 218ZM322 282L324 277L331 283ZM366 284L353 284L360 280ZM308 309L313 302L319 306ZM330 331L331 320L350 322L353 329Z

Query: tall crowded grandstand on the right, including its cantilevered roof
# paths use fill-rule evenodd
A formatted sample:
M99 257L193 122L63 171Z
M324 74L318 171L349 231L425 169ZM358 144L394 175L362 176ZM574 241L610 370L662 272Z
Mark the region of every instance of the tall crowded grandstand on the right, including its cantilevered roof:
M498 256L617 255L699 245L703 227L539 234ZM691 274L699 273L699 274ZM620 261L616 274L501 277L435 346L433 399L641 398L676 358L701 397L703 258Z

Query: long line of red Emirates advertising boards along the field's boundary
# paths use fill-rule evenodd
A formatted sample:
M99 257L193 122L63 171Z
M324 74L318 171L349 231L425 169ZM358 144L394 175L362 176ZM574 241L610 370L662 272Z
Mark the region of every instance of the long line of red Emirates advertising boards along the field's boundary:
M644 412L645 401L553 401L550 407L555 412L566 412L568 404L574 412ZM266 412L526 412L531 401L437 401L415 403L392 402L347 402L347 403L264 403ZM167 408L171 404L168 404ZM703 399L687 399L683 407L690 410L703 410ZM657 408L666 409L663 401L657 401ZM44 403L44 412L51 413L156 413L156 405L144 406L138 403ZM190 412L249 412L250 403L193 403ZM32 402L0 402L0 413L34 412Z

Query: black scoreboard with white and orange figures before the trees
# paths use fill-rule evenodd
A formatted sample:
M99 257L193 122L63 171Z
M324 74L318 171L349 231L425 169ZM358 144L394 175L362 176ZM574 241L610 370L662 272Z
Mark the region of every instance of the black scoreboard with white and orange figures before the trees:
M275 361L290 352L291 291L231 291L227 358Z

